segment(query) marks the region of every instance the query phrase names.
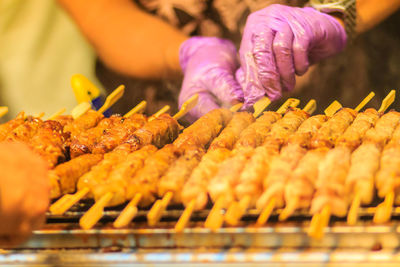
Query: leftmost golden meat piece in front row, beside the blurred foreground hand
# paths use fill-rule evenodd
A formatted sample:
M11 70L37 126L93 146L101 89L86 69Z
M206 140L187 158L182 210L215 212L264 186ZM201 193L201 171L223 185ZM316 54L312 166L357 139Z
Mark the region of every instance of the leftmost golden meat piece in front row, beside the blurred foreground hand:
M73 193L76 190L76 183L83 174L88 172L94 165L103 159L103 155L85 154L63 164L58 165L51 171L52 177L58 181L60 189L52 187L52 198L60 194ZM58 192L58 193L57 193Z

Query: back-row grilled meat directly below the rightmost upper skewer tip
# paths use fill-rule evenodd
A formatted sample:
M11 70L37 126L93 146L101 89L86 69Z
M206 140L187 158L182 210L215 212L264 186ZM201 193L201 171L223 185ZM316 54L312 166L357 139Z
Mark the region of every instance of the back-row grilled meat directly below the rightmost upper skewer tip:
M373 108L358 113L353 123L336 141L336 145L346 145L350 150L356 149L361 144L365 133L375 125L378 119L379 113Z

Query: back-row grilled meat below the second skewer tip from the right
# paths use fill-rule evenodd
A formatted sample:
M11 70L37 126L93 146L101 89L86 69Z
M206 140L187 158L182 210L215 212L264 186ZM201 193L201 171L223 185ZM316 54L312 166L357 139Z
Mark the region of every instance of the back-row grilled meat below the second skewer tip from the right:
M329 119L311 141L312 148L333 147L336 140L349 127L356 117L357 112L350 108L342 108Z

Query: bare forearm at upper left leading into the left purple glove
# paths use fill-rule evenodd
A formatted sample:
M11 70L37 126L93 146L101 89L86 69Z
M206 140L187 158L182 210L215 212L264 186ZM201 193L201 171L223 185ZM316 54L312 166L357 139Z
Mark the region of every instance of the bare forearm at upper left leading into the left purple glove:
M179 47L187 39L130 0L58 0L110 68L142 79L180 73Z

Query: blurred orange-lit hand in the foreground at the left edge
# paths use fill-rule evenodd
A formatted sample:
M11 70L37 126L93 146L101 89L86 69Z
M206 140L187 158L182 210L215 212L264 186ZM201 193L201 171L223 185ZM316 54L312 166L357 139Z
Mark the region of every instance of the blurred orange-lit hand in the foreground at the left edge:
M41 227L49 205L47 165L22 143L0 143L0 247L17 245Z

